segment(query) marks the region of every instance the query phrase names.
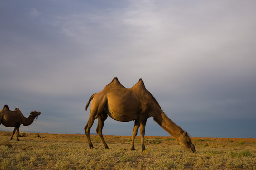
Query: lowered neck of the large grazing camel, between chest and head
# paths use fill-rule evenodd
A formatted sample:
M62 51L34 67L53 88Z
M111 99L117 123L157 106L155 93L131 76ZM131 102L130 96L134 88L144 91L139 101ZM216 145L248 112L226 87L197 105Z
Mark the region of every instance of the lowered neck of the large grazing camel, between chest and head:
M180 134L184 132L181 127L171 121L171 119L169 119L162 111L154 116L154 120L175 139L177 139Z

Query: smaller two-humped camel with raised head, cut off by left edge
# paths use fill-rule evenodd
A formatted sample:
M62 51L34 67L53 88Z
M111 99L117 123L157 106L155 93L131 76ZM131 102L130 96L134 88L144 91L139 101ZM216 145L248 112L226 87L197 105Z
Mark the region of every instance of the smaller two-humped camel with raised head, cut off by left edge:
M3 107L3 109L0 111L0 125L1 123L6 127L14 127L14 130L12 132L12 136L10 140L12 140L12 137L17 132L17 141L19 141L18 135L19 135L19 127L21 124L24 126L31 125L35 118L38 118L38 115L40 115L41 112L32 111L28 118L25 118L19 108L16 108L14 111L11 111L7 105Z

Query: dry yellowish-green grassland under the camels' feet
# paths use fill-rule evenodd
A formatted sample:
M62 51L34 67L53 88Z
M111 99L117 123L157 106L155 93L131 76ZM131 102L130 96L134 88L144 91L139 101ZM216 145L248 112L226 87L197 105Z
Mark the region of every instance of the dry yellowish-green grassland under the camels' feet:
M140 137L135 151L128 150L131 136L104 136L109 150L92 135L27 133L9 141L0 132L0 170L255 170L256 139L192 138L197 153L185 151L172 137Z

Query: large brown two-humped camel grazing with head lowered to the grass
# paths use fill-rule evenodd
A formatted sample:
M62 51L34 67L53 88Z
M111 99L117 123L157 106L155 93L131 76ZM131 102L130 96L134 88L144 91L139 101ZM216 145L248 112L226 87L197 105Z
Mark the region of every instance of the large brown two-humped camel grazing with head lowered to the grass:
M92 101L92 102L91 102ZM187 151L195 152L195 146L192 144L187 132L171 121L162 111L156 99L146 89L142 79L132 88L125 88L115 77L111 83L106 85L101 92L93 94L86 107L91 102L90 117L85 126L85 134L89 143L89 147L93 148L90 139L90 129L95 119L98 119L96 128L97 134L100 136L104 147L108 149L108 145L104 141L102 129L104 121L108 115L114 120L128 122L134 120L133 136L130 150L134 150L134 138L140 127L142 151L145 150L144 135L147 119L153 119L171 136L173 136Z

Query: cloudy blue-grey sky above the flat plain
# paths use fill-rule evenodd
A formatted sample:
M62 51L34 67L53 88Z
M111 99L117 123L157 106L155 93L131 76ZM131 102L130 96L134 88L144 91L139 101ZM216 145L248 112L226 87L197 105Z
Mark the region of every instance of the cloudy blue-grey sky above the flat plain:
M1 0L0 109L42 113L20 131L85 134L92 94L114 77L126 88L142 78L190 136L256 138L255 6L255 0ZM131 136L133 125L108 117L103 134ZM152 118L145 130L170 136Z

